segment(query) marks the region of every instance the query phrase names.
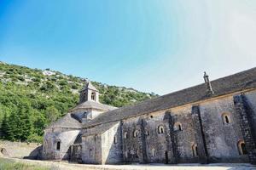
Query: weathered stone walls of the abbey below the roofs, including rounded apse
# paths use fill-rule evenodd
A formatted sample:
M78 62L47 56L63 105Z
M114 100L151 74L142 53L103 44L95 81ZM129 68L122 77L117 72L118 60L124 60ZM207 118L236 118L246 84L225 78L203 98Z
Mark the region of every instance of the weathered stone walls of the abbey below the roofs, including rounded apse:
M94 164L253 162L255 124L256 93L229 94L85 128L81 159ZM46 133L46 155L66 158L78 134L67 129ZM55 139L63 141L60 156L52 143ZM245 142L248 154L240 153L240 141Z

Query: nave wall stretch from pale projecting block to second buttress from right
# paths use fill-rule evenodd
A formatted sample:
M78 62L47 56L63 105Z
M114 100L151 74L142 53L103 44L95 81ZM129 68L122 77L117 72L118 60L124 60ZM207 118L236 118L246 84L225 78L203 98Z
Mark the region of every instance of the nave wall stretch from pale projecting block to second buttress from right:
M190 107L160 111L125 120L122 131L124 160L127 162L193 162L191 146L195 129ZM180 125L177 127L177 125ZM161 130L162 128L162 130ZM138 136L135 137L135 131Z

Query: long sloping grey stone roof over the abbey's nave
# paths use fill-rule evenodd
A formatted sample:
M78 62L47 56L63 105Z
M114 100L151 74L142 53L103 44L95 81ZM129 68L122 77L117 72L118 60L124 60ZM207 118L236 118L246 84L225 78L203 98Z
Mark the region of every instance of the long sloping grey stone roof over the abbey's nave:
M119 109L105 112L97 116L91 122L88 122L84 127L91 127L106 122L119 121L132 116L140 116L154 111L162 111L197 102L202 99L210 99L238 92L248 88L256 88L256 67L253 69L242 71L228 77L219 78L212 83L212 90L214 94L208 95L206 84L202 83L192 88L185 88L183 90L166 94L154 99L148 99L136 105L128 105Z

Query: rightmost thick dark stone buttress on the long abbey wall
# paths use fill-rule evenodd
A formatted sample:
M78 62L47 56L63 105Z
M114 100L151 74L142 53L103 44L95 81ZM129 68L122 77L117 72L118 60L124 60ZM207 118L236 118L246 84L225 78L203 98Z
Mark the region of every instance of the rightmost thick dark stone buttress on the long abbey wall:
M256 139L253 136L253 130L255 129L253 129L252 113L249 110L245 96L242 94L236 95L233 99L249 161L256 164Z

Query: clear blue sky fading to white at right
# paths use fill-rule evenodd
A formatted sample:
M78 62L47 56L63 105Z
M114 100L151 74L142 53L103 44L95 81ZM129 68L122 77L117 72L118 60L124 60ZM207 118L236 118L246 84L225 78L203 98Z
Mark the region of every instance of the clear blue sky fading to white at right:
M168 94L256 66L255 0L0 0L0 60Z

